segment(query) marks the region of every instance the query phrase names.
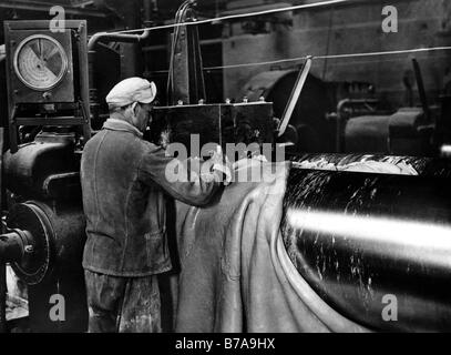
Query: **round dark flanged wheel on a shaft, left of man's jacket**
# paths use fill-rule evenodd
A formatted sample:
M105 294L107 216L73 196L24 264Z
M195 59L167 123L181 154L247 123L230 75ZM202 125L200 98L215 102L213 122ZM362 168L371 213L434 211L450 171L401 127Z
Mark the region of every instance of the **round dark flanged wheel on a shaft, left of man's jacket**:
M84 217L76 207L53 211L30 201L13 205L7 220L10 232L0 235L0 257L30 285L54 273L80 267L84 244Z

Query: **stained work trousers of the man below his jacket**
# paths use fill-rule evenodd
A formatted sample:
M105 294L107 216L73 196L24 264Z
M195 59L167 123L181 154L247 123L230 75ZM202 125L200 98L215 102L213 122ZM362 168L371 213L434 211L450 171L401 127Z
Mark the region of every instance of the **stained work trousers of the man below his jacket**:
M160 333L156 275L117 277L84 271L90 333Z

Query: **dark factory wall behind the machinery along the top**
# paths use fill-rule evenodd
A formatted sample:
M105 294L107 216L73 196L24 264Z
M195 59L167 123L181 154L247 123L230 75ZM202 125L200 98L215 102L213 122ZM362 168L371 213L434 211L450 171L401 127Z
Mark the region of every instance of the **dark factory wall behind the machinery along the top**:
M0 0L0 20L50 19L52 4L62 4L68 19L86 19L92 34L173 22L181 0ZM258 11L318 1L198 0L199 18ZM381 31L381 9L398 8L399 32ZM0 41L3 39L0 27ZM221 22L199 27L205 67L221 67L301 57L342 54L451 44L449 0L360 0L351 4L325 7L277 16ZM170 31L152 32L141 48L115 47L121 55L121 75L145 75L164 88L168 68ZM114 45L114 44L111 44ZM416 54L431 102L450 82L451 51ZM411 55L316 60L312 74L327 82L366 81L392 104L404 104L403 81L412 75ZM239 100L254 75L271 69L296 69L299 63L205 73L211 101ZM418 99L418 98L417 98ZM164 101L164 98L162 98Z

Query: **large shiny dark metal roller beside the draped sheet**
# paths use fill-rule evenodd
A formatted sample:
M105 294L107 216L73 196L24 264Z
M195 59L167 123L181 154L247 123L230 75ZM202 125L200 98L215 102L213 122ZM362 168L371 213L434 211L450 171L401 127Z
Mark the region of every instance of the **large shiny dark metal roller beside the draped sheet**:
M417 176L301 168L320 159L344 165L368 155L295 159L281 233L298 272L337 311L372 329L449 331L449 163L404 159Z

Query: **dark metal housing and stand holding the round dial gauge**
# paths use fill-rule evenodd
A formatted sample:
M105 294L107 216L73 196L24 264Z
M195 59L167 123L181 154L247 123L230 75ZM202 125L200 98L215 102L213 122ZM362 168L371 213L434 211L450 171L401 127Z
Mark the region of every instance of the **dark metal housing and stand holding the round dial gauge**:
M43 22L6 22L4 32L11 152L18 149L19 126L81 126L89 140L86 23L70 22L53 32Z

